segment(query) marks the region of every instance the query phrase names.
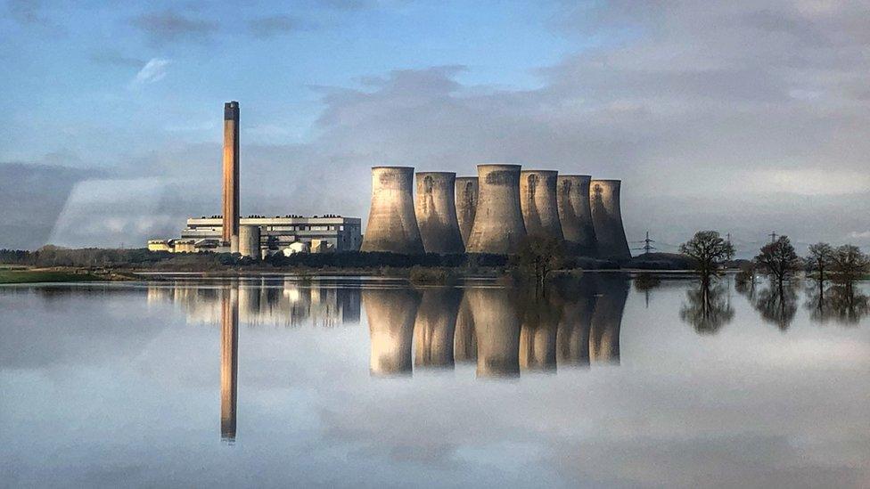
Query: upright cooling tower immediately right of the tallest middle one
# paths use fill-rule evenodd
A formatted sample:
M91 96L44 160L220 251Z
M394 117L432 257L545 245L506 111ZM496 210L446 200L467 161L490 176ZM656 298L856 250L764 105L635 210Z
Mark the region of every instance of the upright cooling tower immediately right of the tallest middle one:
M551 170L520 172L520 208L529 236L562 240L562 224L556 206L556 176Z

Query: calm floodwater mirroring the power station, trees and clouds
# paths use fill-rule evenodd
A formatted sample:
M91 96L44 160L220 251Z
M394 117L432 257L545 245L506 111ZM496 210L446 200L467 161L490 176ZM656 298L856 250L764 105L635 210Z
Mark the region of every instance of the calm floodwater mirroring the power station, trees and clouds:
M868 290L0 287L0 486L868 487Z

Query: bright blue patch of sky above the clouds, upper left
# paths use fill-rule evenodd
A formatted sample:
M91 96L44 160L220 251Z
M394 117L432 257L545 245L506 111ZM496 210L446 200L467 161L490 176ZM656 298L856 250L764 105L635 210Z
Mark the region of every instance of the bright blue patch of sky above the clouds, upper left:
M569 50L549 29L554 5L525 2L85 4L46 2L32 21L2 20L15 69L0 159L61 153L112 166L120 147L217 142L215 114L231 99L243 103L246 142L301 143L329 87L462 65L456 79L470 86L535 88L536 69ZM152 60L159 68L135 81Z

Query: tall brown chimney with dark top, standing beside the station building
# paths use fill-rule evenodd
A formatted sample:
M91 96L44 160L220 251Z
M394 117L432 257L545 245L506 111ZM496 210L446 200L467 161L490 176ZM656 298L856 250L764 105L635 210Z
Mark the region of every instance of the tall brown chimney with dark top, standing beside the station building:
M239 102L224 104L224 233L232 252L239 250Z

